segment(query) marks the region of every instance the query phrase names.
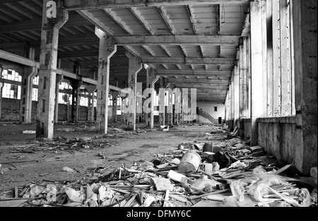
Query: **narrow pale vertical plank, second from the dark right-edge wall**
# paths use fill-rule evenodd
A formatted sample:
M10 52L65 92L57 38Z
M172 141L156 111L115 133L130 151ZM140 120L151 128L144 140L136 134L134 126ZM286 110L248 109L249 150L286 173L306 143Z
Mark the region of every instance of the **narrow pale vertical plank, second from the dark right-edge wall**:
M273 117L281 116L281 23L280 0L272 1L273 8Z

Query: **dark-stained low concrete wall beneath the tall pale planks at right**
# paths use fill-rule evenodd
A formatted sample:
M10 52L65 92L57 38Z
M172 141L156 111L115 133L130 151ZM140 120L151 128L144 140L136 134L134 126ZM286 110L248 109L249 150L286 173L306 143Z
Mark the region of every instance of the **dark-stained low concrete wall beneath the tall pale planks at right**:
M259 145L278 160L302 172L302 131L296 130L295 117L258 119ZM316 156L317 157L317 156Z

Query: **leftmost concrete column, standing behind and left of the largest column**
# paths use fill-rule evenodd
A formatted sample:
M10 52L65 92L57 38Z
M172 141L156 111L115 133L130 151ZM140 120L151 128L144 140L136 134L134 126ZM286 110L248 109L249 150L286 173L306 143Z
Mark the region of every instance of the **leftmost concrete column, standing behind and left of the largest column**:
M28 59L35 59L35 49L29 49ZM21 72L20 124L30 124L32 114L33 78L37 74L37 68L25 66L22 68Z

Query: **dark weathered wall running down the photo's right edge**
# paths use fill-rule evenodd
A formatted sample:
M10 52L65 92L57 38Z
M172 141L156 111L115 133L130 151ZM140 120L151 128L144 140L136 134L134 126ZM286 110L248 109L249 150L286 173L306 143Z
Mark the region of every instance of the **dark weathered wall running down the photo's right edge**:
M304 172L317 167L317 0L301 2Z

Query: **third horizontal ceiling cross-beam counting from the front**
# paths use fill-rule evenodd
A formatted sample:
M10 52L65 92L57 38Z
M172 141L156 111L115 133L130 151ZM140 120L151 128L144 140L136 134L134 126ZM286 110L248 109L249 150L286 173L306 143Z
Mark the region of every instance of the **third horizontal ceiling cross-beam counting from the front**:
M213 64L213 65L234 65L235 59L223 58L201 58L201 57L141 57L144 64Z

